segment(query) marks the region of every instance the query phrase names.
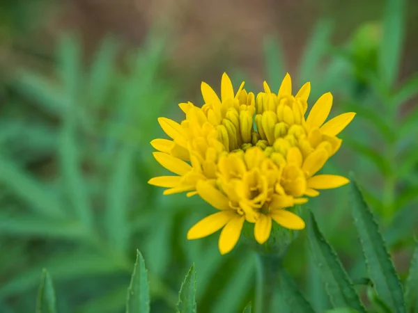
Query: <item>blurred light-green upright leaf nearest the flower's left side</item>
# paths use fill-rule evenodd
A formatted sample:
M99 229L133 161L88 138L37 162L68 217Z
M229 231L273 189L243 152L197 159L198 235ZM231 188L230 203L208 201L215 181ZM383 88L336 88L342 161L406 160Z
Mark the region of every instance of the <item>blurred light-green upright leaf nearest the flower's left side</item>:
M118 152L108 182L106 225L110 243L116 250L124 252L128 246L129 227L127 210L132 192L132 161L134 149L124 146Z

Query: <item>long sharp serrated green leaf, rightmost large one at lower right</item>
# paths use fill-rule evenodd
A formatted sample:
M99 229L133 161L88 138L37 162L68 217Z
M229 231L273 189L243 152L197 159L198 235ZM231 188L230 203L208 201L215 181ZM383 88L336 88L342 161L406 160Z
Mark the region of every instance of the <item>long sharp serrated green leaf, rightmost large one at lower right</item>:
M351 211L362 244L369 278L378 296L384 298L394 312L405 313L401 283L387 252L385 241L378 230L373 214L363 200L355 178L351 176Z

